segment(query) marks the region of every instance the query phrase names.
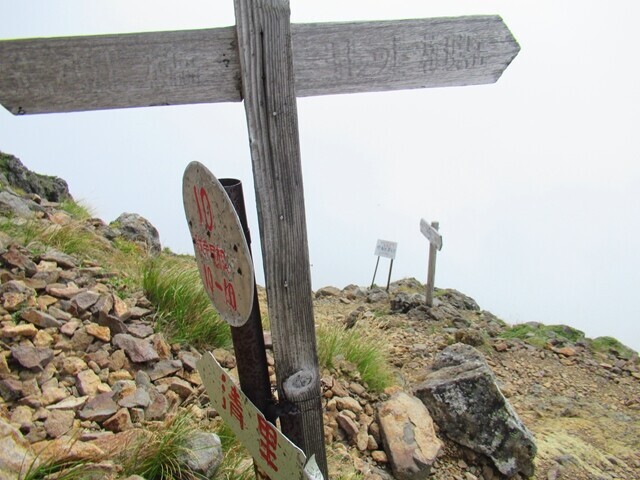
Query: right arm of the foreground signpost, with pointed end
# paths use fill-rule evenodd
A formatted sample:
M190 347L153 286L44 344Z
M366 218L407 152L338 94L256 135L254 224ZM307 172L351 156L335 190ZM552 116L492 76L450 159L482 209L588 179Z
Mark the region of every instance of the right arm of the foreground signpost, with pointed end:
M298 96L494 83L520 50L497 15L293 31Z

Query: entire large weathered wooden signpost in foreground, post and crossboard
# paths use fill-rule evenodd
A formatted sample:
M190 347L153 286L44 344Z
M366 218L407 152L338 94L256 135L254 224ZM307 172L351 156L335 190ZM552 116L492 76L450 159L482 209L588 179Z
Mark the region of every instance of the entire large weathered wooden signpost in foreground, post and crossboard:
M244 101L282 431L327 478L296 96L493 83L519 46L498 16L292 26L287 0L234 2L235 28L0 41L0 103Z

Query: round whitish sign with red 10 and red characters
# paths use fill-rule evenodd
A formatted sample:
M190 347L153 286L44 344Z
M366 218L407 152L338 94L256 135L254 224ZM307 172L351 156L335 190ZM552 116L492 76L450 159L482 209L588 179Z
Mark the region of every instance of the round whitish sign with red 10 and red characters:
M224 187L201 163L182 179L182 199L204 288L220 316L239 327L253 306L253 263Z

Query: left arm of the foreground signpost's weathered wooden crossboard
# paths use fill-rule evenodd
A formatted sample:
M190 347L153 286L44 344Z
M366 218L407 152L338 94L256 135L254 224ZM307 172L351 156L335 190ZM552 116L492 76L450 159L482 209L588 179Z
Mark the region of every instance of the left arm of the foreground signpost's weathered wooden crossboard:
M14 114L239 101L237 57L234 27L2 41L0 101Z

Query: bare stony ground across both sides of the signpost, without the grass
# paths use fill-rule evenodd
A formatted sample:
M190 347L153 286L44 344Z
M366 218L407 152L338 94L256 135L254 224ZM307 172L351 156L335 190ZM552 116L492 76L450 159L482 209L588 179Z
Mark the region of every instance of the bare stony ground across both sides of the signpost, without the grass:
M11 186L0 192L5 218L16 223L36 219L53 230L73 221L59 203L68 195L63 182L49 182L38 190L36 177L24 171L12 175L11 182L0 178L0 183L19 184L27 193L18 194ZM99 219L83 225L105 248L124 236L157 254L157 232L143 220L125 216L111 226ZM195 369L201 352L170 344L157 331L154 304L141 289L123 294L119 274L108 264L25 245L0 233L1 478L15 478L16 462L19 468L25 455L33 461L34 452L45 447L45 456L53 458L100 458L102 473L95 478L115 478L119 466L109 457L132 432L182 410L189 410L203 426L216 416ZM617 344L596 348L569 327L550 331L530 325L519 338L510 338L514 330L473 299L455 290L438 290L434 306L428 308L422 292L419 282L408 279L392 284L389 293L349 286L315 294L316 323L340 331L360 329L380 340L395 383L375 392L356 367L341 358L323 370L332 478L357 478L349 477L354 471L367 480L504 478L509 467L503 466L501 473L495 459L479 453L482 447L460 444L468 444L468 439L456 435L475 431L473 425L452 431L451 424L459 419L449 410L449 420L443 421L438 405L428 408L435 420L431 422L427 408L413 396L429 396L425 392L439 388L447 370L453 371L454 383L473 377L493 385L495 380L498 393L491 401L485 398L482 408L489 405L498 411L506 405L522 420L524 431L508 432L507 437L517 439L509 448L517 450L528 442L528 431L533 434L537 455L531 478L640 478L637 354ZM260 300L266 313L263 290ZM214 356L233 373L232 351L218 349ZM268 359L273 374L270 353ZM493 389L489 383L483 392ZM483 417L490 416L483 411ZM433 433L429 427L411 427L415 439L408 442L413 447L405 460L419 464L417 473L403 473L399 467L388 440L394 426L385 423L391 417L401 429L431 424ZM517 417L486 428L498 437L504 425L511 428L519 422ZM422 445L419 454L411 450L423 438L428 438L428 446ZM220 461L219 445L211 440L209 447L213 458L198 468L217 478L211 472ZM513 454L518 455L526 465L515 469L520 473L509 474L523 478L529 453Z

